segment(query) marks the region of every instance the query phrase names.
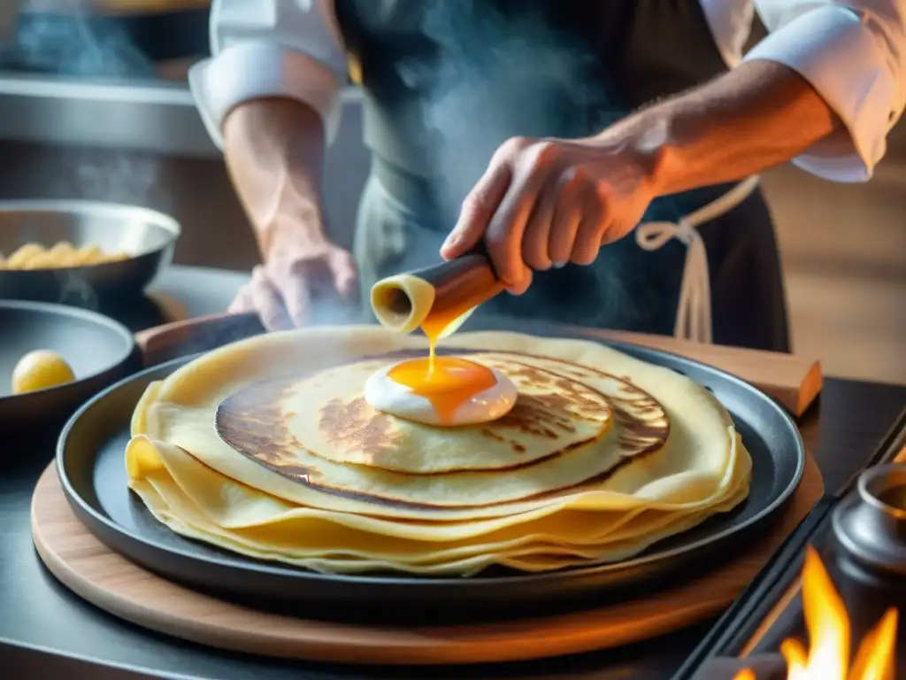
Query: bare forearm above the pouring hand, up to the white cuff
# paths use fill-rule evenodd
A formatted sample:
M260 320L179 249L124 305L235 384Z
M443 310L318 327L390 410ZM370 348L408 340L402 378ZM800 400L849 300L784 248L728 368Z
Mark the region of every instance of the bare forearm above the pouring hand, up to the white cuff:
M839 128L805 79L780 63L756 61L654 104L602 138L651 154L655 185L670 194L756 174Z

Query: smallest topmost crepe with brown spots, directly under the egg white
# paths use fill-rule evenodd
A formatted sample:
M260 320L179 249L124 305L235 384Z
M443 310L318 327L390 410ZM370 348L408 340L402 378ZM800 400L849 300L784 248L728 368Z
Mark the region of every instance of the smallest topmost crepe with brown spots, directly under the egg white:
M513 409L495 422L436 427L375 411L363 385L394 363L387 359L335 366L292 384L275 410L298 448L328 461L409 474L525 467L595 442L612 424L605 395L580 382L542 370L519 372L501 355L469 360L500 369L519 391Z

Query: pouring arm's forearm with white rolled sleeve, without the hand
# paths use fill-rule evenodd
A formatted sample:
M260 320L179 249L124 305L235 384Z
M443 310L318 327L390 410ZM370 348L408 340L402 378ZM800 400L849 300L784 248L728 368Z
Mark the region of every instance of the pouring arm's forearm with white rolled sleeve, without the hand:
M787 160L862 181L886 150L906 105L906 3L756 5L771 33L741 64L602 135L651 153L664 193Z

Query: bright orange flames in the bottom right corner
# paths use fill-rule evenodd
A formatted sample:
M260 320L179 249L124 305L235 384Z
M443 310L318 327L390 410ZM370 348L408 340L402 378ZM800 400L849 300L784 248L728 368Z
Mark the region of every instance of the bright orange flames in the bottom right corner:
M802 601L810 648L786 639L780 652L786 659L787 680L896 680L897 610L888 609L862 639L850 666L850 620L843 598L809 546L802 570ZM848 669L848 670L847 670ZM740 671L734 680L755 680L755 673Z

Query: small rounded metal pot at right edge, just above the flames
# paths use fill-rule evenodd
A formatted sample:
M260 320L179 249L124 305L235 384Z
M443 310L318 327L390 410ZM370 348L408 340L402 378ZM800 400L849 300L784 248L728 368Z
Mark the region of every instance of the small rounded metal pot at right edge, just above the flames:
M906 464L864 471L856 491L834 509L832 523L837 541L854 559L906 576Z

